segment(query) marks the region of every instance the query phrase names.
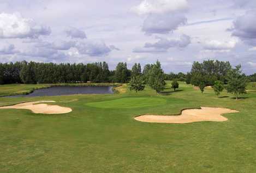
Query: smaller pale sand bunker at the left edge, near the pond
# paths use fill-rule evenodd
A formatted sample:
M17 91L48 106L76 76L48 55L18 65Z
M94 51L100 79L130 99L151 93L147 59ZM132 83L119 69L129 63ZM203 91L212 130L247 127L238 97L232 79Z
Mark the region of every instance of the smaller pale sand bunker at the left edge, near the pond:
M55 101L26 102L26 103L15 104L14 106L3 106L3 107L0 107L0 109L29 109L35 114L65 114L65 113L72 112L72 109L67 107L41 104L44 102L55 102Z

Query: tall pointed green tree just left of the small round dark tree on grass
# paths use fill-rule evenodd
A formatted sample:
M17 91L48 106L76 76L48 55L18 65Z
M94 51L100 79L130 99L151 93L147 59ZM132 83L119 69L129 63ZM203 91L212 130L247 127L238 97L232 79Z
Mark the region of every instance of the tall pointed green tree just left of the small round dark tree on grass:
M164 81L164 72L161 69L161 64L157 60L157 63L152 66L152 69L150 70L149 78L148 78L148 84L150 87L157 92L160 92L164 89L165 81Z

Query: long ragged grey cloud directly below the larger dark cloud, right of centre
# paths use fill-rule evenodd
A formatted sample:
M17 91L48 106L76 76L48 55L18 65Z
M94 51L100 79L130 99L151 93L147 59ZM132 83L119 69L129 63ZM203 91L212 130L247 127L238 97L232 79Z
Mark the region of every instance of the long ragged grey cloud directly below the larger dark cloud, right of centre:
M185 34L181 35L180 38L178 39L168 40L168 39L159 38L159 37L157 39L159 39L157 42L153 44L146 42L143 48L135 48L133 52L137 52L137 53L167 52L168 49L171 47L184 48L191 43L190 36Z

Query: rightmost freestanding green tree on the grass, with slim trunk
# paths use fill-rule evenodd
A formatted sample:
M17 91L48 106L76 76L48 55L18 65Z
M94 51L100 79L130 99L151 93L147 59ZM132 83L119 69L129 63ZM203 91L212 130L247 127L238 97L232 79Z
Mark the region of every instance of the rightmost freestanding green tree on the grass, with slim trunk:
M227 90L229 93L234 94L236 100L238 100L238 96L240 94L246 93L246 85L247 78L246 75L241 71L241 65L235 67L235 69L231 69L228 72L228 85Z

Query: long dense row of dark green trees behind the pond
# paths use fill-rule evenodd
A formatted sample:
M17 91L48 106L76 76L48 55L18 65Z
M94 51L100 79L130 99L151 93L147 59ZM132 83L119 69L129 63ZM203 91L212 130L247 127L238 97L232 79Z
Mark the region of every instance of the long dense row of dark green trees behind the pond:
M55 64L20 61L0 63L0 84L11 83L127 83L131 71L126 63L118 63L116 70L109 70L106 62L91 64Z

